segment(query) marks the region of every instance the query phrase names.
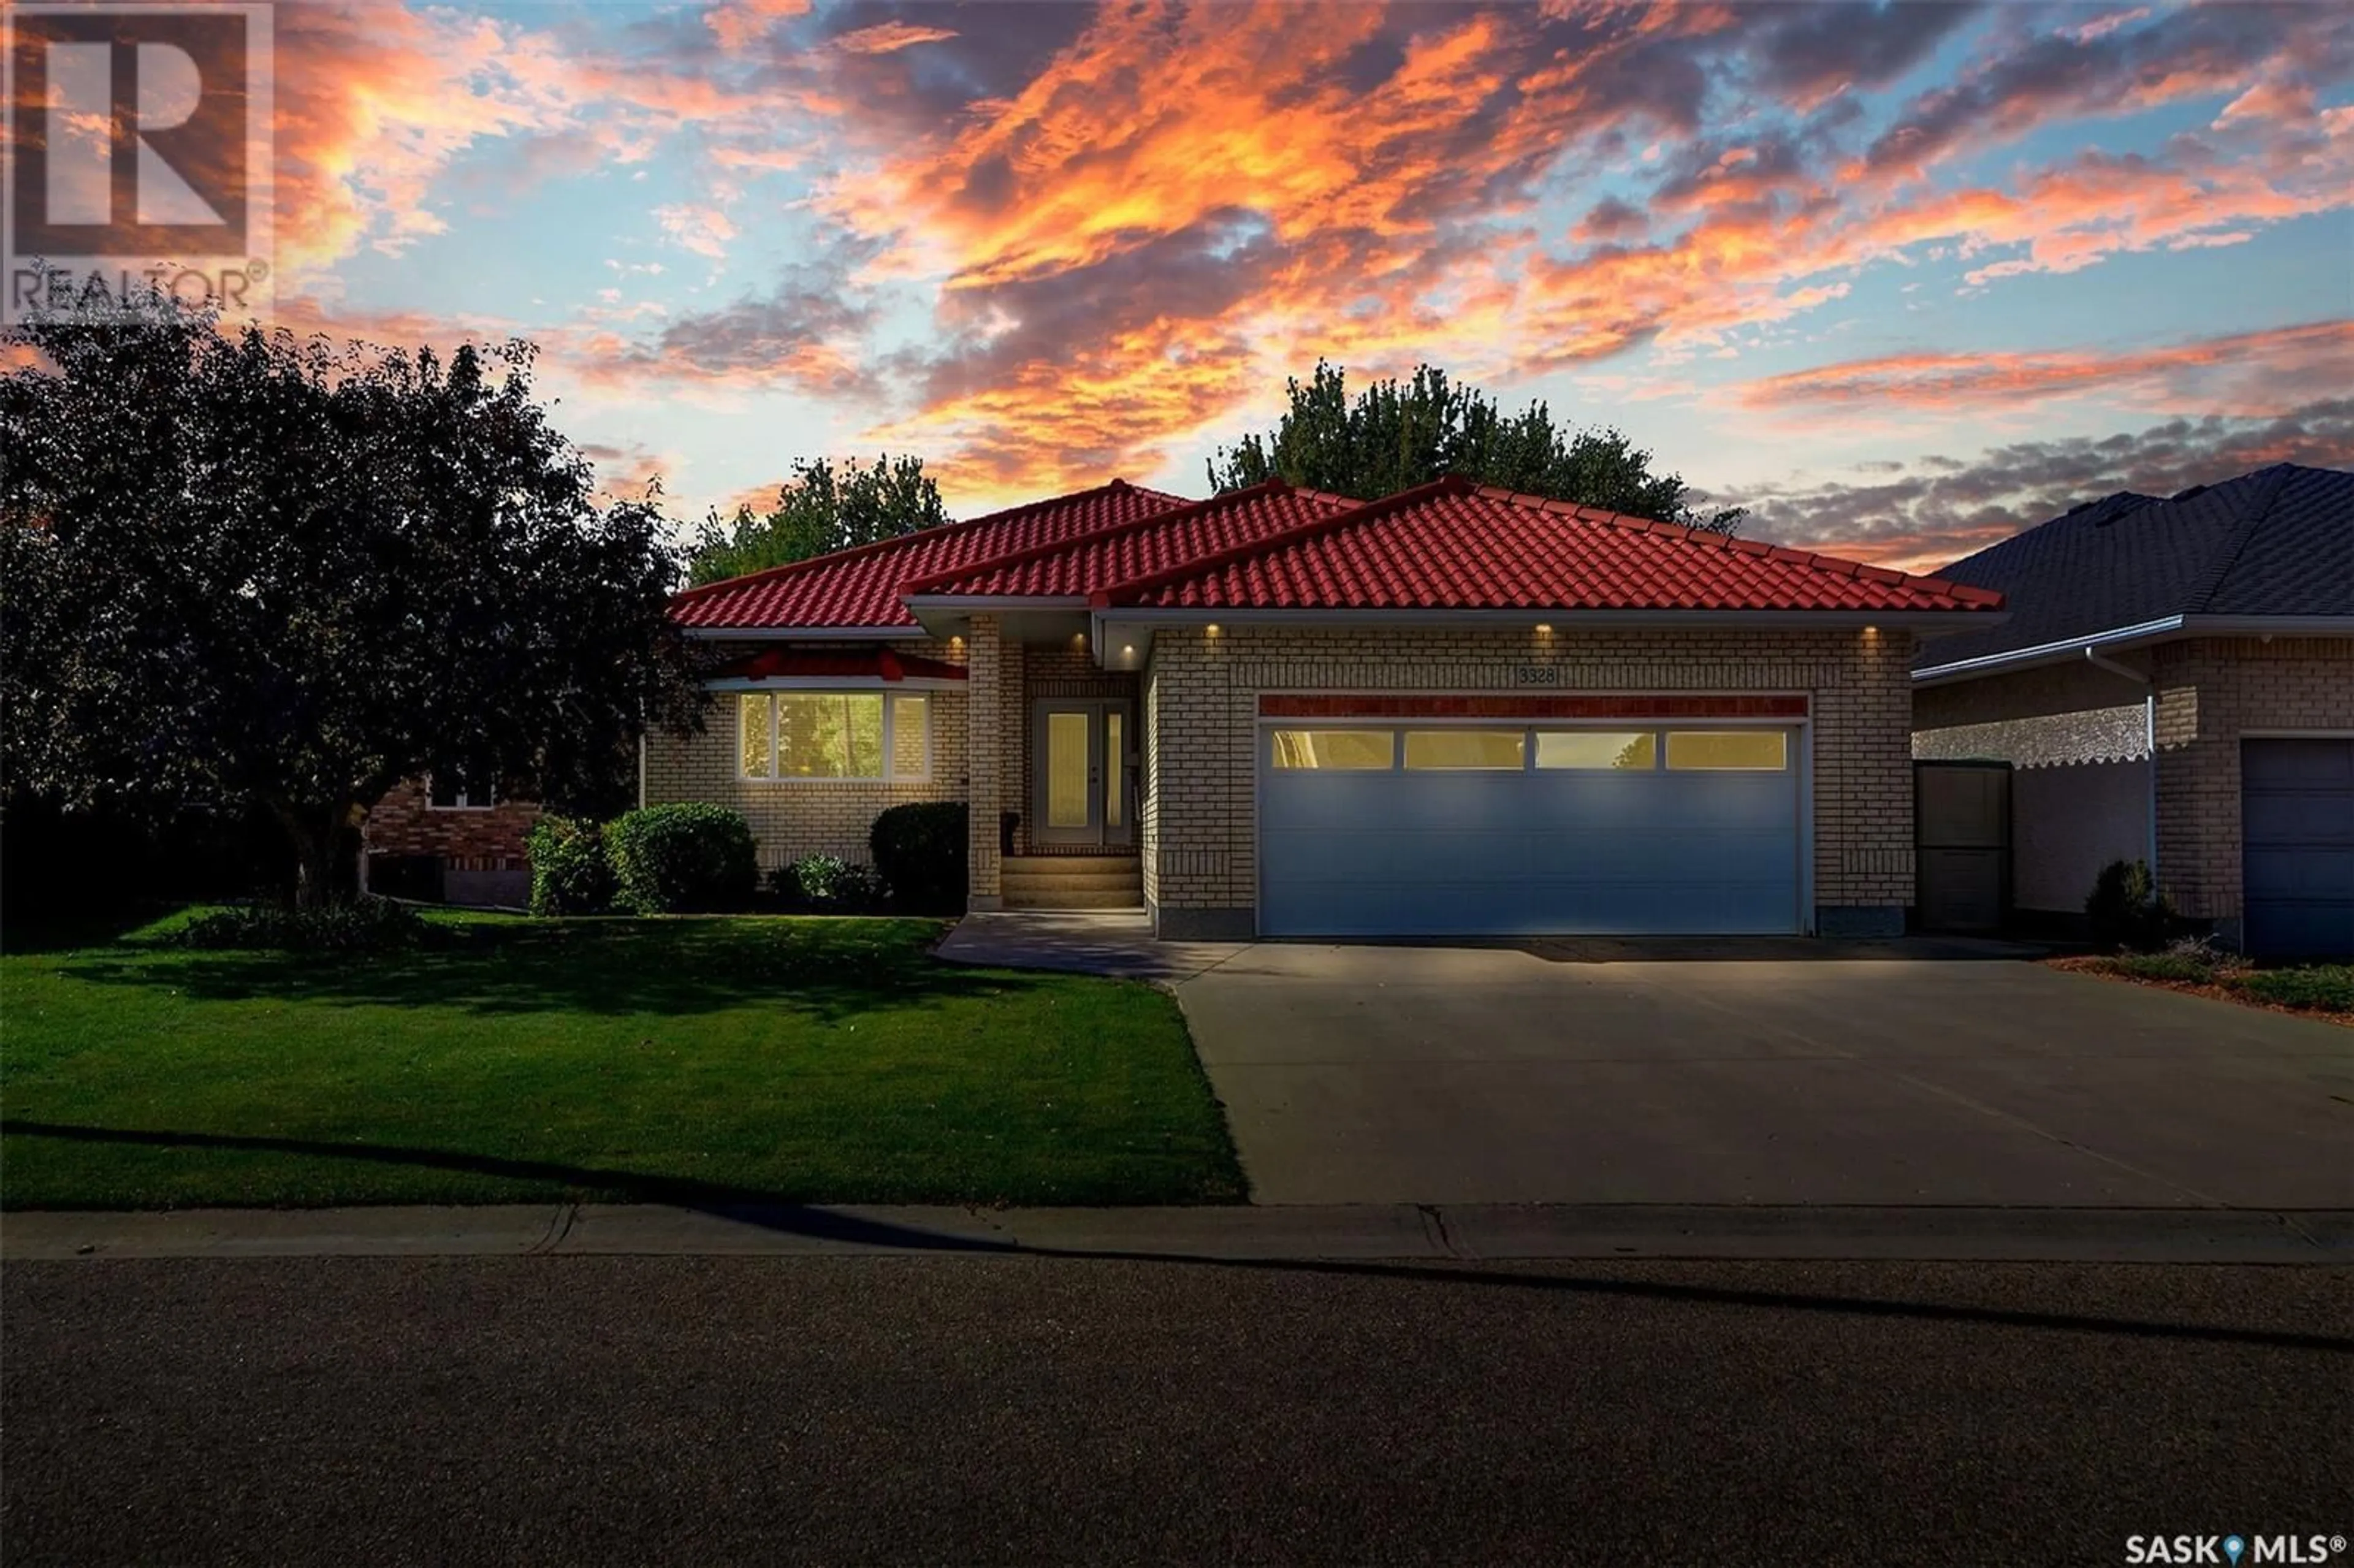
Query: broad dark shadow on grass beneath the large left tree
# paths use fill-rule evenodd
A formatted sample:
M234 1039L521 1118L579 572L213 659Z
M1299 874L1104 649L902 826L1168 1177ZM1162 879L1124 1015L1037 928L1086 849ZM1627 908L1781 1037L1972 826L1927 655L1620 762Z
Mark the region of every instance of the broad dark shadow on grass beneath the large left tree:
M942 963L930 954L935 935L930 923L516 921L457 925L428 949L360 956L115 944L64 963L61 975L198 1001L450 1008L478 1017L683 1017L760 1005L829 1024L1055 984L1045 975Z

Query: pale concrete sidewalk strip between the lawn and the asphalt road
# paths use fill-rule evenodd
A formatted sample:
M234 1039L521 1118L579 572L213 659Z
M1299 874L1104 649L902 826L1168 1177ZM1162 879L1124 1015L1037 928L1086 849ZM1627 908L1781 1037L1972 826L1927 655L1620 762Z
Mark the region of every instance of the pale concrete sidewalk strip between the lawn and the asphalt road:
M0 1260L106 1257L904 1257L1170 1260L1956 1260L2347 1264L2342 1210L2086 1208L763 1208L666 1205L16 1212Z

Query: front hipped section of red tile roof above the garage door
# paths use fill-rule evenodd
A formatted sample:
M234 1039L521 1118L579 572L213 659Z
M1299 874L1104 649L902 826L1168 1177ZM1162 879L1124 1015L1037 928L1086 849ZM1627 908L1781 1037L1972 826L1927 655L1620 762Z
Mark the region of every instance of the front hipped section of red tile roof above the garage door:
M1092 596L1186 610L1996 610L2001 593L1445 478Z

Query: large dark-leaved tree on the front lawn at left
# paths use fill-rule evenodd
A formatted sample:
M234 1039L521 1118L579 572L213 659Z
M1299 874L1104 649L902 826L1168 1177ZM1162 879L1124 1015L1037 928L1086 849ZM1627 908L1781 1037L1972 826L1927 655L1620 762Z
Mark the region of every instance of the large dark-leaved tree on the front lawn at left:
M66 805L259 805L297 897L428 770L598 796L699 723L652 504L598 509L525 344L447 358L160 308L0 377L0 763Z

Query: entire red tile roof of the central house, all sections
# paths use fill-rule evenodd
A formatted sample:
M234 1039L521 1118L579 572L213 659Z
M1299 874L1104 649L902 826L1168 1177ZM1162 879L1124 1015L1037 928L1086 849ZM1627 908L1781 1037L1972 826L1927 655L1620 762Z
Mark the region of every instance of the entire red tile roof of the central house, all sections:
M2001 593L1443 478L1382 501L1113 480L690 589L683 626L906 626L904 596L1149 610L1996 610Z

